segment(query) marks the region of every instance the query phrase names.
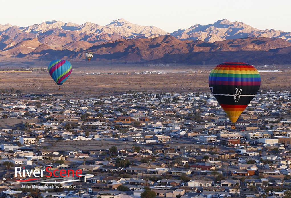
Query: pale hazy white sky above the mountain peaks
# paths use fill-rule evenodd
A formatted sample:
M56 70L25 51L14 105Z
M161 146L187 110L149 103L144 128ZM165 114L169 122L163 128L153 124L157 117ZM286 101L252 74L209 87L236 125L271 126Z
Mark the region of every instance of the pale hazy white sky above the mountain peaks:
M291 32L289 0L14 0L1 1L0 24L26 27L44 21L107 25L124 18L167 32L221 19L240 21L258 29Z

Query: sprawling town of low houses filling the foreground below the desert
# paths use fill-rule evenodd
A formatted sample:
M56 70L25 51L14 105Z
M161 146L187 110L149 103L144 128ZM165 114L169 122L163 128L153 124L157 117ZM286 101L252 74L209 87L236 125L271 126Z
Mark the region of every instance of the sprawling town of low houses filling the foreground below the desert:
M211 93L21 92L1 89L3 198L290 193L290 91L259 91L235 126Z

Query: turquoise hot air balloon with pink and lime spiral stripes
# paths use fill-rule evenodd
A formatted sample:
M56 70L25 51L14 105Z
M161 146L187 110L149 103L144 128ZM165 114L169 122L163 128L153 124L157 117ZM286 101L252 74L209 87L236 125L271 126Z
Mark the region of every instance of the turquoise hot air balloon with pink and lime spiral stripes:
M72 65L67 60L53 60L49 63L49 74L56 84L63 85L72 72ZM59 87L58 89L61 89Z

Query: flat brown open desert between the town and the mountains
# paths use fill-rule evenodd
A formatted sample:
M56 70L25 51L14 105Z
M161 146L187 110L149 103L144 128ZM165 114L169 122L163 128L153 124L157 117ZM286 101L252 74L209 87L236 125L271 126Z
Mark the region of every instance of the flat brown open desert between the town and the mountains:
M155 92L210 92L208 76L215 65L170 65L167 67L147 64L116 64L98 62L71 62L72 74L61 90L47 72L49 62L0 61L0 88L22 90L23 93L100 95L125 91ZM33 67L29 71L24 71ZM40 68L40 69L36 69ZM43 68L43 69L41 69ZM290 90L289 65L276 68L283 72L262 72L261 89ZM3 71L4 70L4 71ZM14 71L13 71L14 70Z

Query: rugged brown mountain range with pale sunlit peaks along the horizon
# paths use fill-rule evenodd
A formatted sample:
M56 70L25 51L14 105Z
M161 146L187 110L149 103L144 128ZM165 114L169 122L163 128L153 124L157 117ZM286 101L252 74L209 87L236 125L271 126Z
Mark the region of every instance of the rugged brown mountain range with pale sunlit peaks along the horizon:
M152 61L215 64L225 60L261 64L291 63L291 33L259 30L223 19L168 33L118 19L96 23L46 21L28 27L0 25L0 57L30 60Z

